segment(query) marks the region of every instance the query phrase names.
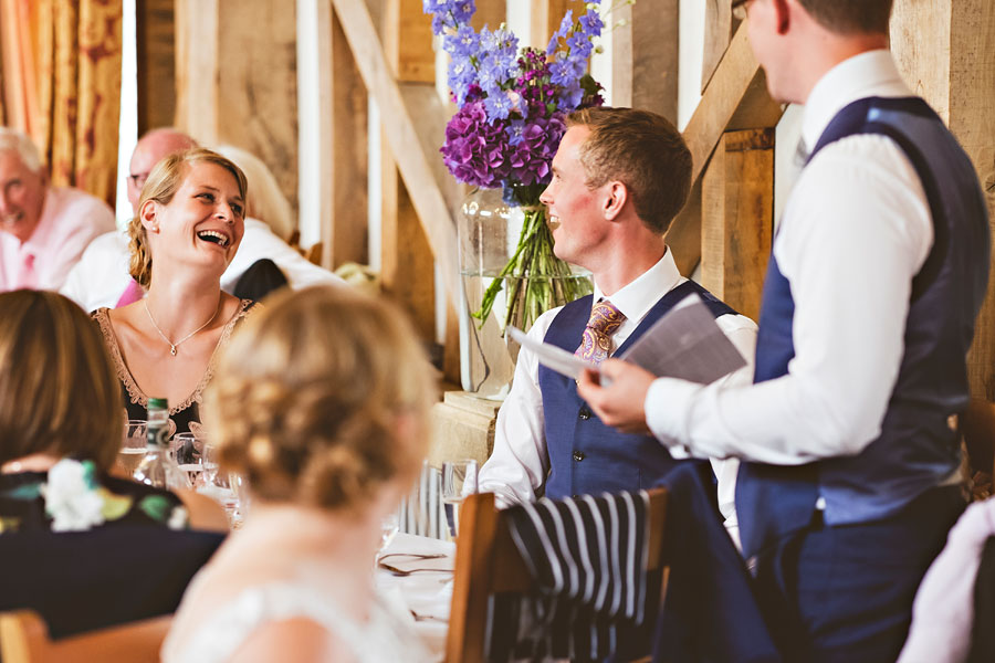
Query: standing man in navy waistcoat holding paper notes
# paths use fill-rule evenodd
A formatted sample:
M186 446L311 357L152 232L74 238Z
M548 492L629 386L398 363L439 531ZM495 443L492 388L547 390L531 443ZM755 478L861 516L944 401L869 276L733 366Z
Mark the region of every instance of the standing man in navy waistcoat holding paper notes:
M734 0L772 96L805 104L805 167L764 283L754 385L622 362L580 394L674 456L741 459L736 509L789 661L893 661L964 508L951 415L985 295L989 230L970 159L902 83L892 0Z

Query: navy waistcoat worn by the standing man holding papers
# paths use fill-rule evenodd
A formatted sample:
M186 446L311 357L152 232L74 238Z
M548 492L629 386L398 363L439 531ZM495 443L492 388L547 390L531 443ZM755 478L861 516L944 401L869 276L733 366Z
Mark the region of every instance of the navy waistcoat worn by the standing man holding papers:
M904 354L880 435L855 456L802 466L743 463L736 511L746 556L808 525L819 497L828 525L873 522L941 483L960 462L947 419L968 400L965 356L988 281L985 199L971 160L922 99L871 97L850 104L829 123L813 156L858 134L884 135L908 156L930 204L933 246L912 280ZM790 283L772 254L754 382L788 372L795 356L794 311Z

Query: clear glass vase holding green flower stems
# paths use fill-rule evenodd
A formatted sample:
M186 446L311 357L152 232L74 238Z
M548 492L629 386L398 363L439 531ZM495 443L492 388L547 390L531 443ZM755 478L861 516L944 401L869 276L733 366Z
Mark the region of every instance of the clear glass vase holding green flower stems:
M528 202L474 189L459 217L461 379L482 398L511 388L519 346L509 325L527 332L543 312L591 292L586 271L553 255L546 208Z

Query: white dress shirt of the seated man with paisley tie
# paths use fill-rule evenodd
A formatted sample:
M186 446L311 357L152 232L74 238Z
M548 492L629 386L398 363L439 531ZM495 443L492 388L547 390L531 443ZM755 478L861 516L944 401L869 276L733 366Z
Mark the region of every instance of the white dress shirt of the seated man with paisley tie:
M663 295L684 283L678 272L673 255L668 249L660 261L638 278L606 297L626 319L611 335L611 351L625 344L639 327L642 318ZM595 284L593 302L603 297ZM553 318L562 307L542 314L528 330L528 336L542 341ZM726 376L721 382L746 383L753 379L753 356L756 347L756 325L742 315L723 315L716 318L719 327L729 336L748 366ZM577 338L580 345L580 338ZM720 508L726 519L733 514L737 463L716 464ZM543 394L538 386L538 359L526 348L519 351L515 377L511 392L498 412L494 431L494 451L480 470L479 490L494 493L498 506L532 502L535 492L546 482L549 456L546 453L546 434L543 428ZM730 483L732 482L732 483ZM732 525L734 520L727 523Z

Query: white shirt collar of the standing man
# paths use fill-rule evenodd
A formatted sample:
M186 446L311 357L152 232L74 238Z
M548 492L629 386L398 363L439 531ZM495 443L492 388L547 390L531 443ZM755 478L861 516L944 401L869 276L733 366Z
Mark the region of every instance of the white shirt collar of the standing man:
M805 104L802 137L806 147L811 150L829 122L852 102L870 96L911 95L890 51L880 49L860 53L829 70L811 88Z

